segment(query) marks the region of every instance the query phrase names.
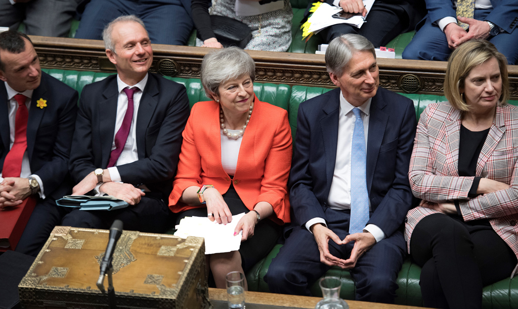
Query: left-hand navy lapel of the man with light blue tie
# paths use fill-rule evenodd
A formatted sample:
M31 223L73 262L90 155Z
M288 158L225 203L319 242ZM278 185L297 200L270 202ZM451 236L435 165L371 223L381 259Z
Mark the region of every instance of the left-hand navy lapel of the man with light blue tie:
M324 151L326 157L326 196L331 190L333 175L335 174L336 149L338 144L338 118L340 117L340 88L329 96L322 110L325 115L320 119L320 128L322 130L322 141L324 142Z

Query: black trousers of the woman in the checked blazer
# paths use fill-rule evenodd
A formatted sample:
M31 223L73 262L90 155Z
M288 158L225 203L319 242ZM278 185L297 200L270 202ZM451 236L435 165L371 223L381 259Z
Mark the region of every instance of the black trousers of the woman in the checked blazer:
M509 277L517 262L491 226L441 213L415 226L410 253L423 268L423 304L433 308L481 308L482 287Z

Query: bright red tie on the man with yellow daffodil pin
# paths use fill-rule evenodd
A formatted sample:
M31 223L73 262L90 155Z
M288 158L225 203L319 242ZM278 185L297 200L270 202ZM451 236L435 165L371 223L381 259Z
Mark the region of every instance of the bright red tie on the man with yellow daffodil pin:
M25 106L27 97L18 94L15 100L18 102L18 110L15 117L15 143L7 153L4 160L3 177L20 177L22 172L23 153L27 149L27 119L29 112Z

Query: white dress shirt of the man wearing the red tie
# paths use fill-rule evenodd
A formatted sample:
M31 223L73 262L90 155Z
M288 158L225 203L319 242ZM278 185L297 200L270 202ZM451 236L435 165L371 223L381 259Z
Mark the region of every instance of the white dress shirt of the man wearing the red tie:
M16 112L18 111L18 102L15 99L15 96L21 93L27 99L25 100L25 106L27 106L27 111L31 109L31 98L34 90L25 90L23 92L18 92L15 89L12 89L7 82L5 83L5 88L7 90L7 112L9 113L9 149L12 148L12 145L15 144L15 122L16 122ZM37 142L37 141L36 141ZM39 178L38 175L31 174L31 163L29 162L29 157L27 155L27 150L23 153L22 159L22 171L20 173L20 177L34 177L38 181L39 184L39 196L41 198L45 198L44 189L43 189L43 181ZM0 182L2 182L4 178L2 177L2 173L0 173ZM28 183L28 182L27 182Z

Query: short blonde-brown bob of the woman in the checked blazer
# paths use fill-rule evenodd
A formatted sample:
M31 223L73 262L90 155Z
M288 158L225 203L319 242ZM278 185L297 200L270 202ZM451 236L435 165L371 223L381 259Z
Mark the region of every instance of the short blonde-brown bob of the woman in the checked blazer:
M507 59L496 49L493 43L486 40L470 40L458 47L448 59L448 68L444 78L444 96L455 109L468 112L470 106L464 102L461 88L464 88L466 76L476 66L495 58L500 67L502 79L502 93L499 103L506 103L509 99L509 77L507 75Z

